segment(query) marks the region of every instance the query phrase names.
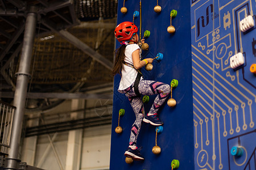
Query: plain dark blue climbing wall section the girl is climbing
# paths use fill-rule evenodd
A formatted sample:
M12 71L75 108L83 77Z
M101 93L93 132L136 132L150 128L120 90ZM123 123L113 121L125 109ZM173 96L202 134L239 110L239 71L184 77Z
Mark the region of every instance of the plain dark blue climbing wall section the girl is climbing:
M152 153L155 146L155 127L142 124L137 145L142 147L141 154L145 160L127 164L123 155L129 146L130 129L135 120L129 100L123 94L117 92L120 76L114 79L113 98L113 122L112 122L112 144L110 153L110 169L171 169L171 161L177 159L180 162L179 169L194 168L194 146L193 146L193 97L192 97L192 60L191 60L191 17L190 1L167 1L159 0L162 12L154 11L155 1L142 0L142 26L144 31L151 32L145 42L149 49L143 51L143 58L154 58L157 53L163 53L163 60L154 61L151 71L142 70L145 79L158 80L163 83L171 83L177 79L179 85L173 90L172 97L177 101L174 108L167 104L159 111L159 117L164 121L163 132L158 134L158 146L162 148L159 155ZM139 1L125 1L127 13L120 12L123 1L118 1L117 23L124 21L133 22L134 11L139 11ZM167 32L170 26L170 12L177 11L177 16L172 19L172 25L176 28L174 35ZM134 19L139 27L139 18ZM117 48L119 47L117 42ZM146 112L151 107L155 96L150 96L150 102L144 104ZM122 134L115 133L118 126L119 109L125 109L125 115L120 118Z

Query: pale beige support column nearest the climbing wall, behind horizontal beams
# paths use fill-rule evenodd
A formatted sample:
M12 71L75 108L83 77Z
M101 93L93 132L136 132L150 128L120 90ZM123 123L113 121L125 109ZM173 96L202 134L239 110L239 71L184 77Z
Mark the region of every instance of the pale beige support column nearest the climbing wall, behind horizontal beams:
M73 99L71 103L72 111L81 109L83 100ZM71 119L82 118L77 112L71 113ZM68 146L65 163L65 170L79 170L82 149L82 129L70 130L68 132Z

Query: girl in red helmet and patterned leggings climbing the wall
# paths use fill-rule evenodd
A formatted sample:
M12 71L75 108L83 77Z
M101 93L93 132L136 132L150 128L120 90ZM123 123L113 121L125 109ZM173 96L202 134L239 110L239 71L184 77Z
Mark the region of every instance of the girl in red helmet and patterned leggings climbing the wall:
M147 63L152 63L153 59L146 58L141 60L137 31L137 26L131 22L123 22L115 28L115 37L122 46L115 52L115 64L112 74L121 75L118 92L128 97L136 117L131 127L129 147L125 152L125 156L134 160L143 160L144 158L137 148L137 137L141 130L142 120L155 126L163 125L163 122L158 118L157 112L170 94L171 88L168 84L143 79L140 69ZM142 43L144 43L144 40L142 40ZM155 94L158 95L155 97L150 111L144 114L141 95Z

